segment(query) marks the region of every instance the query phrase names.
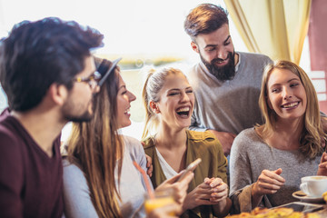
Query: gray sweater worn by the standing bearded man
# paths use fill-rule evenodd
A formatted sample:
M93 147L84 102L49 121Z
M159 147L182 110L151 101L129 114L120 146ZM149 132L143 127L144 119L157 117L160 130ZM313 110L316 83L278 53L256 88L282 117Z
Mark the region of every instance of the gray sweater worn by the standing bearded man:
M190 129L239 134L262 124L258 100L263 68L272 60L263 54L238 54L233 80L219 81L202 62L187 74L196 97Z

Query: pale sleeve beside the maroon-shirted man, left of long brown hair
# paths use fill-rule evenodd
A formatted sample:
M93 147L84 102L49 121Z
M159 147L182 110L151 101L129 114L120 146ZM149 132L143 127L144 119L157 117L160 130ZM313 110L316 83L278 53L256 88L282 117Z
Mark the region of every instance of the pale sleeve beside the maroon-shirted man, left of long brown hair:
M64 215L66 218L98 217L84 173L64 161Z

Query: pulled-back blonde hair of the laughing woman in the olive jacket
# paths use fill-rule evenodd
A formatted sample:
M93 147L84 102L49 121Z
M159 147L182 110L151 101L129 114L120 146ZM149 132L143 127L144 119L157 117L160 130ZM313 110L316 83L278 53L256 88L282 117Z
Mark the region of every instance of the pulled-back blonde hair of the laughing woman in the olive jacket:
M153 101L154 103L157 103L160 101L159 92L163 88L163 84L165 83L168 74L183 74L183 72L172 67L162 68L160 70L151 69L148 71L142 92L142 100L145 107L145 122L142 140L149 136L158 127L159 119L157 114L154 114L151 109L150 102Z

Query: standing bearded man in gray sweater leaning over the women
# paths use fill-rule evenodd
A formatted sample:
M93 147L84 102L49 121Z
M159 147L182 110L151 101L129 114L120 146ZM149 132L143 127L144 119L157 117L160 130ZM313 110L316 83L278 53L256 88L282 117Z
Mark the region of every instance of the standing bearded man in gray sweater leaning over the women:
M234 51L227 12L220 6L198 5L184 30L201 58L188 74L196 99L190 128L209 129L227 156L236 134L263 122L258 100L263 68L272 60Z

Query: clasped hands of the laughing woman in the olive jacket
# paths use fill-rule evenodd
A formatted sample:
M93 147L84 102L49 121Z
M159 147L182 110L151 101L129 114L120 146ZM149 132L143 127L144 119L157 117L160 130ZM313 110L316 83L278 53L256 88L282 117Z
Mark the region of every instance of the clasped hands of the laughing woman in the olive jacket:
M228 185L223 183L221 178L205 178L188 193L183 203L183 211L193 209L199 205L213 205L226 199L228 195Z

